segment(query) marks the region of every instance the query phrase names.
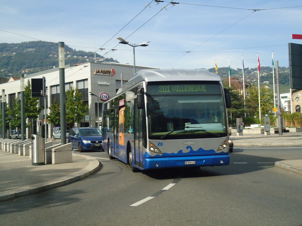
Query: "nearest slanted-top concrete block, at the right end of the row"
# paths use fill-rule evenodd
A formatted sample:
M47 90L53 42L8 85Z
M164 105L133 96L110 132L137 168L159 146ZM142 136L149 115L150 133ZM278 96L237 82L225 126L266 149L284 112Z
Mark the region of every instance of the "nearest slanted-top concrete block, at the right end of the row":
M72 143L67 143L52 149L52 164L72 162Z

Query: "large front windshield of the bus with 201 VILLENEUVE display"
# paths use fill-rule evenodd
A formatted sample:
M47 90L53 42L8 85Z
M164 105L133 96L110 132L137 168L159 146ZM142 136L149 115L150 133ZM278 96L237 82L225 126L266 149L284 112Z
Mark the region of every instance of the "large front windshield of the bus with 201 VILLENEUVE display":
M226 136L226 112L218 82L148 84L149 138L186 139Z

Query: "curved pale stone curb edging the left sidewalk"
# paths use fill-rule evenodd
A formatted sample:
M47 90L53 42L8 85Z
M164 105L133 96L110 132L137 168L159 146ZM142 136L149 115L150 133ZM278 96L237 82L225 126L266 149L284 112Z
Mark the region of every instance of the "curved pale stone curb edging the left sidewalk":
M79 155L79 154L73 154L73 155ZM100 163L97 159L86 156L86 155L80 155L81 157L88 160L88 165L72 174L68 174L64 177L60 177L58 179L49 180L46 182L42 182L39 184L29 185L26 187L16 188L4 192L0 192L0 201L9 200L18 198L21 196L26 196L34 193L38 193L41 191L45 191L51 188L64 186L66 184L70 184L72 182L75 182L77 180L82 180L85 177L88 177L90 174L93 174L98 168L100 167Z

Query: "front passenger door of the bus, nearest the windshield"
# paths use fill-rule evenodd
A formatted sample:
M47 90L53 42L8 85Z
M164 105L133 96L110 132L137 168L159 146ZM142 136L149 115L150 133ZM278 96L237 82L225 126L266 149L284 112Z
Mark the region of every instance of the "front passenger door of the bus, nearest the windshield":
M137 106L137 100L134 101L134 106ZM134 108L134 159L132 159L132 162L135 163L135 165L140 166L143 168L143 110ZM133 156L132 156L133 158Z

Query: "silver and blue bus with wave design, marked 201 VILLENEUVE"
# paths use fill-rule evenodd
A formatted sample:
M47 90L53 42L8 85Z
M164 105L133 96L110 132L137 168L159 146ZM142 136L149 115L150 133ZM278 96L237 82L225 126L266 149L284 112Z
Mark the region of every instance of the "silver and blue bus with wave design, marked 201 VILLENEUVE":
M206 69L144 69L102 105L104 150L132 171L229 165L230 93Z

